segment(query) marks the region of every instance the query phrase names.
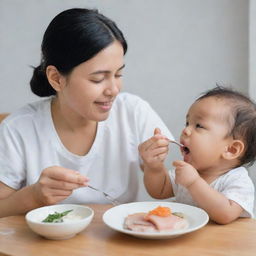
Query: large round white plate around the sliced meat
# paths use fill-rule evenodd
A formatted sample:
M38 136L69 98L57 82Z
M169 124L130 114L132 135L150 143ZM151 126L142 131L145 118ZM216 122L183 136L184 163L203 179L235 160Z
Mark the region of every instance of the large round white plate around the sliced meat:
M148 212L153 210L157 206L166 206L170 207L172 212L182 212L185 214L189 226L188 228L181 230L174 230L169 232L159 232L159 233L149 233L149 232L134 232L128 229L124 229L123 224L124 220L129 214L137 213L137 212ZM198 230L205 226L209 221L208 214L197 207L179 204L179 203L170 203L170 202L136 202L129 204L121 204L115 206L109 210L107 210L103 215L104 223L110 228L140 238L148 238L148 239L166 239L166 238L174 238L195 230Z

